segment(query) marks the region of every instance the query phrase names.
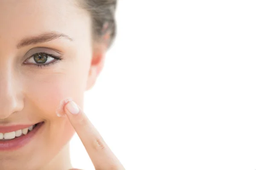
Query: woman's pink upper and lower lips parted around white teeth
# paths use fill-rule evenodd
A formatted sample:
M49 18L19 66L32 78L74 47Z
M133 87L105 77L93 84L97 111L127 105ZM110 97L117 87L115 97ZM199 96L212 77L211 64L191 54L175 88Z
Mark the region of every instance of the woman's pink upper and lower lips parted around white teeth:
M1 150L17 150L20 147L23 147L25 144L29 143L29 141L32 139L32 137L38 132L38 130L44 125L44 122L40 122L36 124L36 126L33 128L32 131L30 131L28 134L15 137L14 139L10 140L0 140L0 151ZM15 130L19 130L22 128L29 127L31 125L17 125L12 127L0 127L1 133L7 133L12 132ZM3 129L3 131L2 131Z

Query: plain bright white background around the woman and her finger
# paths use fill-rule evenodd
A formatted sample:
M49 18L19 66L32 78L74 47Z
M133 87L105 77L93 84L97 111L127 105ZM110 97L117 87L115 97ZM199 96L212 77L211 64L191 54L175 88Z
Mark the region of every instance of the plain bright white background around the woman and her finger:
M256 170L254 1L119 0L116 20L84 105L125 168Z

